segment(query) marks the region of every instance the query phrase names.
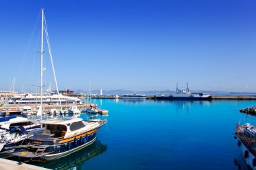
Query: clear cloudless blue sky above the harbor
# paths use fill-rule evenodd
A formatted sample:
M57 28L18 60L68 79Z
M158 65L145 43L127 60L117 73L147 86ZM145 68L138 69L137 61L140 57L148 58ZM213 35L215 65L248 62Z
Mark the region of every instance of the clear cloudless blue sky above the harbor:
M92 89L174 90L188 81L192 90L256 91L255 0L5 0L0 7L0 90L13 77L17 90L40 81L40 18L32 31L44 7L60 89L87 90L92 77Z

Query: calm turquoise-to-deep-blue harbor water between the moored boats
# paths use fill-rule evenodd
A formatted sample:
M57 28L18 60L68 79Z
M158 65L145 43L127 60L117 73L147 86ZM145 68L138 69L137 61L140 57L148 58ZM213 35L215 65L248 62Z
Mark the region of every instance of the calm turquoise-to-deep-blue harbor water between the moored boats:
M246 116L238 110L256 101L92 102L109 110L98 140L57 161L32 164L49 169L236 169L238 159L247 169L233 134L236 120Z

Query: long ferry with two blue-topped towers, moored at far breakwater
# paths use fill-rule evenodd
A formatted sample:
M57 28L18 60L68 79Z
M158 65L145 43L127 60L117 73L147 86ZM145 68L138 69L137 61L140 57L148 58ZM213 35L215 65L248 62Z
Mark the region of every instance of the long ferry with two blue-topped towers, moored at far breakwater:
M158 94L155 95L156 99L187 99L187 100L210 100L212 95L205 93L191 93L187 84L187 89L179 89L178 85L175 93L170 95Z

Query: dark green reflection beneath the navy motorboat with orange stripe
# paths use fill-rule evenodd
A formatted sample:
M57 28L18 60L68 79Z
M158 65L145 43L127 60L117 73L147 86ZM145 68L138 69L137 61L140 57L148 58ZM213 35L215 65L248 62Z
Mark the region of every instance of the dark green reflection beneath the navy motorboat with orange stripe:
M83 169L83 164L91 159L92 157L96 157L102 153L104 153L107 149L106 144L102 144L100 140L96 140L90 146L86 146L82 148L80 151L76 151L71 155L67 155L66 157L57 159L55 161L49 161L46 163L32 163L33 165L37 165L40 167L45 167L49 169Z

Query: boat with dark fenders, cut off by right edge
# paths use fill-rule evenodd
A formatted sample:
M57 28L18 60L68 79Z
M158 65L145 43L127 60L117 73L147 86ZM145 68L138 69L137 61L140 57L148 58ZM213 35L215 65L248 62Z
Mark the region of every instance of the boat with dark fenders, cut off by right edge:
M243 158L251 169L256 170L256 126L238 120L234 138L238 137L238 147L241 148Z

